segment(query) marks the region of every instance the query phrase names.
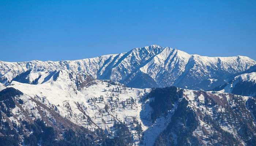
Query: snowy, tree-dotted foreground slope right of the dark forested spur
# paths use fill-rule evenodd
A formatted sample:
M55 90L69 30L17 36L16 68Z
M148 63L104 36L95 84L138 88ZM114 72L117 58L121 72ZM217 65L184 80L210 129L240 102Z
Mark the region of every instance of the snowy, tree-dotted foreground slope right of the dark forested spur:
M247 113L247 118L242 118L247 121L251 119L251 122L248 122L255 126L255 114L252 109L248 108L248 105L252 107L255 104L255 98L248 96L237 96L229 93L221 93L221 92L203 92L203 91L193 91L193 90L185 90L184 92L185 98L189 101L188 107L191 107L199 118L200 126L196 128L193 132L195 137L200 137L203 145L212 145L213 143L218 143L221 141L220 139L211 139L210 135L214 135L218 130L216 127L212 125L214 122L219 124L219 127L226 132L229 132L233 137L237 138L240 145L246 145L245 139L241 137L241 121L237 120L236 116L242 117L242 115L246 115L246 112L241 111L250 111ZM252 102L252 103L251 103ZM230 107L229 107L230 106ZM231 109L236 109L240 111L240 114L235 114ZM226 114L230 114L230 118L226 116ZM202 115L209 115L214 122L207 121L206 118L202 118ZM233 119L233 120L230 120ZM240 124L238 124L240 123ZM206 135L207 133L207 135ZM211 139L211 143L209 143L208 139ZM227 145L227 144L226 144Z

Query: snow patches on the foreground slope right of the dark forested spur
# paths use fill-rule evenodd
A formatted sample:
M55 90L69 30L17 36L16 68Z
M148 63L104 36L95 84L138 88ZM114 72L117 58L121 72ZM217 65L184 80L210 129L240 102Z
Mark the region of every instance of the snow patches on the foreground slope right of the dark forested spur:
M216 98L216 96L218 96L219 99L226 100L225 103L229 103L229 105L231 107L236 107L237 106L234 103L234 100L230 97L229 93L214 93L213 94L213 93L210 93L210 92L205 92L204 94L202 94L202 92L203 91L191 91L191 90L185 89L184 96L186 97L187 100L189 100L189 105L188 106L191 107L195 112L197 112L197 111L206 112L208 115L212 116L212 118L214 116L216 116L216 115L213 114L213 110L217 110L219 112L224 112L225 111L225 107L222 107L219 104L215 105L214 107L207 107L207 108L205 107L205 105L203 104L205 98L206 97L209 98L209 97L212 97L212 96L215 96L214 98ZM194 97L190 97L190 96L192 96L191 93L194 93ZM205 97L205 94L207 94L206 97ZM226 98L223 98L222 96L224 96ZM249 98L253 98L253 97L242 96L242 99L243 99L244 103ZM192 99L194 99L194 100L192 100ZM199 104L199 103L202 103L202 104ZM224 122L219 123L220 127L223 130L233 134L234 137L238 138L241 143L244 143L244 141L240 137L237 137L238 136L238 130L240 128L239 127L234 127L234 126L230 125L226 120L227 119L225 119ZM200 119L200 117L199 117L199 123L200 123L200 126L198 126L196 128L196 130L193 131L193 135L196 136L196 137L200 136L201 139L202 139L202 142L204 144L208 145L208 138L209 138L208 135L214 134L215 129L212 128L211 125L209 125L205 121L203 121L203 119ZM209 134L208 135L204 134L203 130L206 130Z

